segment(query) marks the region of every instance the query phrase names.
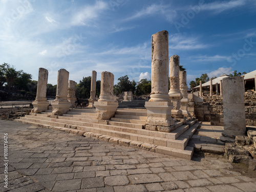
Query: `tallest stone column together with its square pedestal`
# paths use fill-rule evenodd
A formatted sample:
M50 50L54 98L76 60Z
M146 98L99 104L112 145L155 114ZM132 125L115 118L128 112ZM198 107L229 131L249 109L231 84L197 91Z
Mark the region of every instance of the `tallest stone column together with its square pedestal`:
M168 32L152 35L152 92L145 102L146 130L170 132L173 129L172 101L168 95Z

